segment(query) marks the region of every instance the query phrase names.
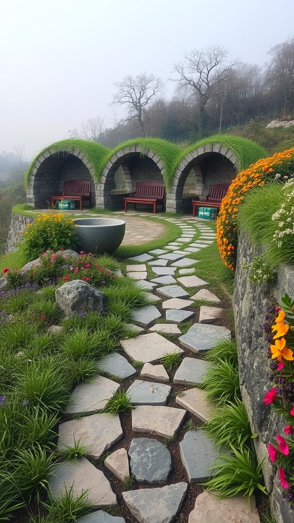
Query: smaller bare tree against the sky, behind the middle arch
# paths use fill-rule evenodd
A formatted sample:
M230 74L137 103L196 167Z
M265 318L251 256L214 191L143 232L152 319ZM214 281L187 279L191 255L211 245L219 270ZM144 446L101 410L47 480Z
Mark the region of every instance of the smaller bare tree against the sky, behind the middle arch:
M135 77L125 76L115 86L118 90L111 105L125 105L127 108L127 118L121 123L137 120L142 133L146 132L144 111L164 92L161 78L140 73Z

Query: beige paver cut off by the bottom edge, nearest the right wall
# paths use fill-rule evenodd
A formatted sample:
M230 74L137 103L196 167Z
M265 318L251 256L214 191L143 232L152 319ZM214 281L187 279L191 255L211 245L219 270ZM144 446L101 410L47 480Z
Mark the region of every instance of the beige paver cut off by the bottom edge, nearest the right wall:
M194 510L190 512L188 523L260 523L254 499L251 507L243 496L219 499L216 494L203 492L197 496Z

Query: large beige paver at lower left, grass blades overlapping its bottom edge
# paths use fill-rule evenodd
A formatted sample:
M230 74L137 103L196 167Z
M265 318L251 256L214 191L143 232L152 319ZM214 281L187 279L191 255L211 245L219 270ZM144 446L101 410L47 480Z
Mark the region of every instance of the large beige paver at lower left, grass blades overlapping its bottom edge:
M109 481L86 458L56 463L52 465L51 471L54 475L49 476L48 481L53 497L61 499L73 485L74 498L80 496L82 491L89 490L87 500L93 504L93 508L117 505Z

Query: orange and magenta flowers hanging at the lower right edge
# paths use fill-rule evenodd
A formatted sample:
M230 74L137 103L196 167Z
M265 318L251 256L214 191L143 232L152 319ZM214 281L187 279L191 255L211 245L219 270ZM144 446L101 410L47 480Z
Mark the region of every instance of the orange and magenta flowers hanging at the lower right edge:
M272 334L269 334L273 308L268 311L264 329L270 343L270 379L273 388L264 397L264 403L286 419L284 436L277 434L268 445L270 461L278 467L283 497L294 510L294 301L288 294L281 298L282 306L275 310ZM277 315L278 312L278 315Z

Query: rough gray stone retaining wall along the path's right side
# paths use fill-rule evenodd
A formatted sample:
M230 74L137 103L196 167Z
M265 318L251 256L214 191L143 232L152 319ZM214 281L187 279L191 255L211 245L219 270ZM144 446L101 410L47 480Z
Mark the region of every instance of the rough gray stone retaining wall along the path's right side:
M283 434L287 423L263 403L265 392L272 388L269 381L268 343L264 340L263 324L269 305L280 303L281 296L286 292L294 297L294 268L287 266L281 269L272 286L253 285L248 280L248 271L242 267L258 254L261 253L252 248L245 235L241 235L233 294L240 388L252 432L258 434L254 439L258 461L261 462L265 457L263 472L272 513L277 523L293 523L294 513L282 499L276 467L267 457L270 440L274 441L276 434Z

